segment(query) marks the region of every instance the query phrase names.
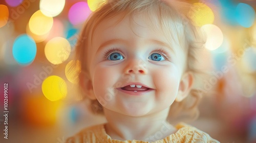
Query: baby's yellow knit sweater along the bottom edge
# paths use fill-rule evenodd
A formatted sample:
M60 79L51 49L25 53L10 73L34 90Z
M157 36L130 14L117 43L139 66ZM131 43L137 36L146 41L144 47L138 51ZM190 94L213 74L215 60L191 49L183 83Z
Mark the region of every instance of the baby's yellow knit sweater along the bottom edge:
M212 139L207 133L200 131L195 127L188 126L184 123L180 123L176 126L177 132L171 134L164 139L157 140L154 143L164 143L164 142L219 142L216 139ZM97 125L80 131L73 137L70 137L66 141L67 143L148 143L148 141L140 140L116 140L111 139L111 137L106 134L104 125Z

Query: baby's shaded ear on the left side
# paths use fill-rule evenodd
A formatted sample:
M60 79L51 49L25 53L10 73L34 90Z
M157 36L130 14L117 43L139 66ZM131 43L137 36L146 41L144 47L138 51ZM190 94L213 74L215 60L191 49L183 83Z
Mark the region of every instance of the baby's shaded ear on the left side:
M83 93L86 94L86 96L89 97L89 99L96 100L96 97L93 91L93 83L89 75L86 72L81 71L79 76L80 76L79 84L82 88Z

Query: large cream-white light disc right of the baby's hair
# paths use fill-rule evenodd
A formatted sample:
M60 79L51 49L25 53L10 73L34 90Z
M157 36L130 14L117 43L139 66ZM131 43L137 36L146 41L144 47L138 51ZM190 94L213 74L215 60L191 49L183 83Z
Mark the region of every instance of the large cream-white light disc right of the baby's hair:
M205 43L205 47L208 50L216 50L221 46L223 42L223 33L219 27L215 25L204 25L202 26L202 30L205 32L207 36L207 40Z

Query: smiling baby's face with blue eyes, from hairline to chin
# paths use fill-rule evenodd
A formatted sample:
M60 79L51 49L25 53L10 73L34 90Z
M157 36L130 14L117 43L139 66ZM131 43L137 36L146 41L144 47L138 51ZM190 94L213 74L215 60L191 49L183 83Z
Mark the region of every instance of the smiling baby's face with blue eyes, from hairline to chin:
M97 100L103 108L131 116L168 109L186 65L184 47L171 45L140 16L132 25L129 18L116 24L118 16L102 21L88 55Z

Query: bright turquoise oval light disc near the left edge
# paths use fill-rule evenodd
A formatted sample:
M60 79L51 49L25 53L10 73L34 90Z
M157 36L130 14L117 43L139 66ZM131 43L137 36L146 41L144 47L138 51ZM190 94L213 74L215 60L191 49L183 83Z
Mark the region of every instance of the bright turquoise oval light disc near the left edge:
M15 61L21 65L32 63L36 56L35 41L26 34L18 36L13 43L12 54Z

